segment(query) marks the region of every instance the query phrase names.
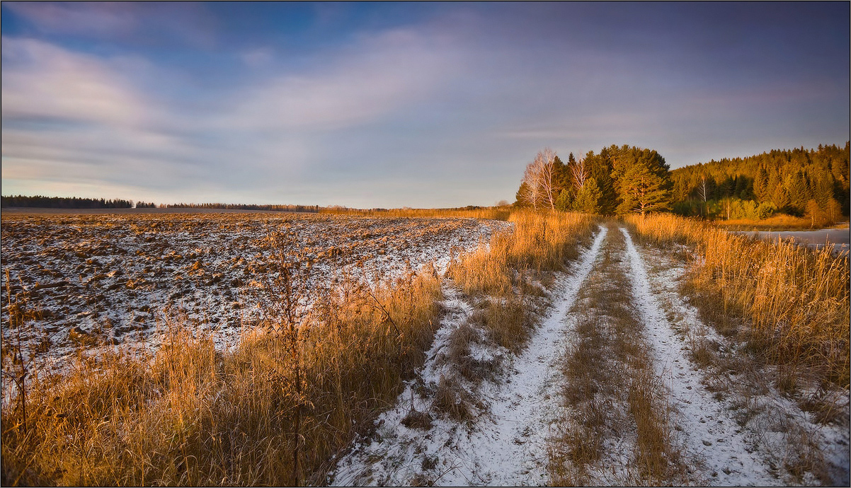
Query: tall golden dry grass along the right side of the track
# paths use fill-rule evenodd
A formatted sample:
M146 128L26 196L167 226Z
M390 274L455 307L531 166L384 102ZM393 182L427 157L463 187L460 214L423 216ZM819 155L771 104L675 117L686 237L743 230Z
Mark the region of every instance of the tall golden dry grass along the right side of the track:
M691 286L703 309L722 323L730 315L744 319L740 332L768 361L806 366L848 387L848 253L755 241L667 214L626 221L643 241L695 247Z

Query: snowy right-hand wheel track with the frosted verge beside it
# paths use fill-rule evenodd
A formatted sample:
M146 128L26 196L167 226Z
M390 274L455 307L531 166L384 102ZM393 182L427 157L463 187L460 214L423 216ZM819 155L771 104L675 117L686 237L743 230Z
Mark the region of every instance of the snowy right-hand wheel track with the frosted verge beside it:
M748 388L756 386L762 390L760 394L749 392L745 396L744 389L735 388L717 389L715 393L708 389L719 378L712 381L710 372L694 366L689 360L690 348L698 341L724 348L725 340L700 321L697 309L677 291L684 265L659 251L645 250L645 256L652 258L654 264L648 273L642 253L633 245L629 233L621 231L630 256L634 298L654 346L657 374L665 380L671 406L677 412L679 441L691 457L703 460L705 479L711 485L819 484L813 473L804 473L799 479L786 468L787 464L794 464L796 457L808 455L803 444L812 440L816 450L825 456L832 484L848 485L847 425L814 423L811 414L779 394L768 384L770 380L757 377L758 372L751 372L749 377L726 372L720 381L759 383ZM846 390L846 399L839 401L846 409L847 395ZM741 406L745 404L752 410L744 411Z

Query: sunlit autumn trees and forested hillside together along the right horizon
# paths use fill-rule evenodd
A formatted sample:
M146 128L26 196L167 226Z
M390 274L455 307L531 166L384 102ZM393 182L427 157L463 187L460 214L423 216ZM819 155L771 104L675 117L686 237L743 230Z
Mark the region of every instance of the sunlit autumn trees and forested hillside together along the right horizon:
M563 162L542 150L530 162L515 206L589 213L670 210L704 218L808 216L828 224L848 216L849 143L844 148L772 150L670 170L656 150L611 145Z

